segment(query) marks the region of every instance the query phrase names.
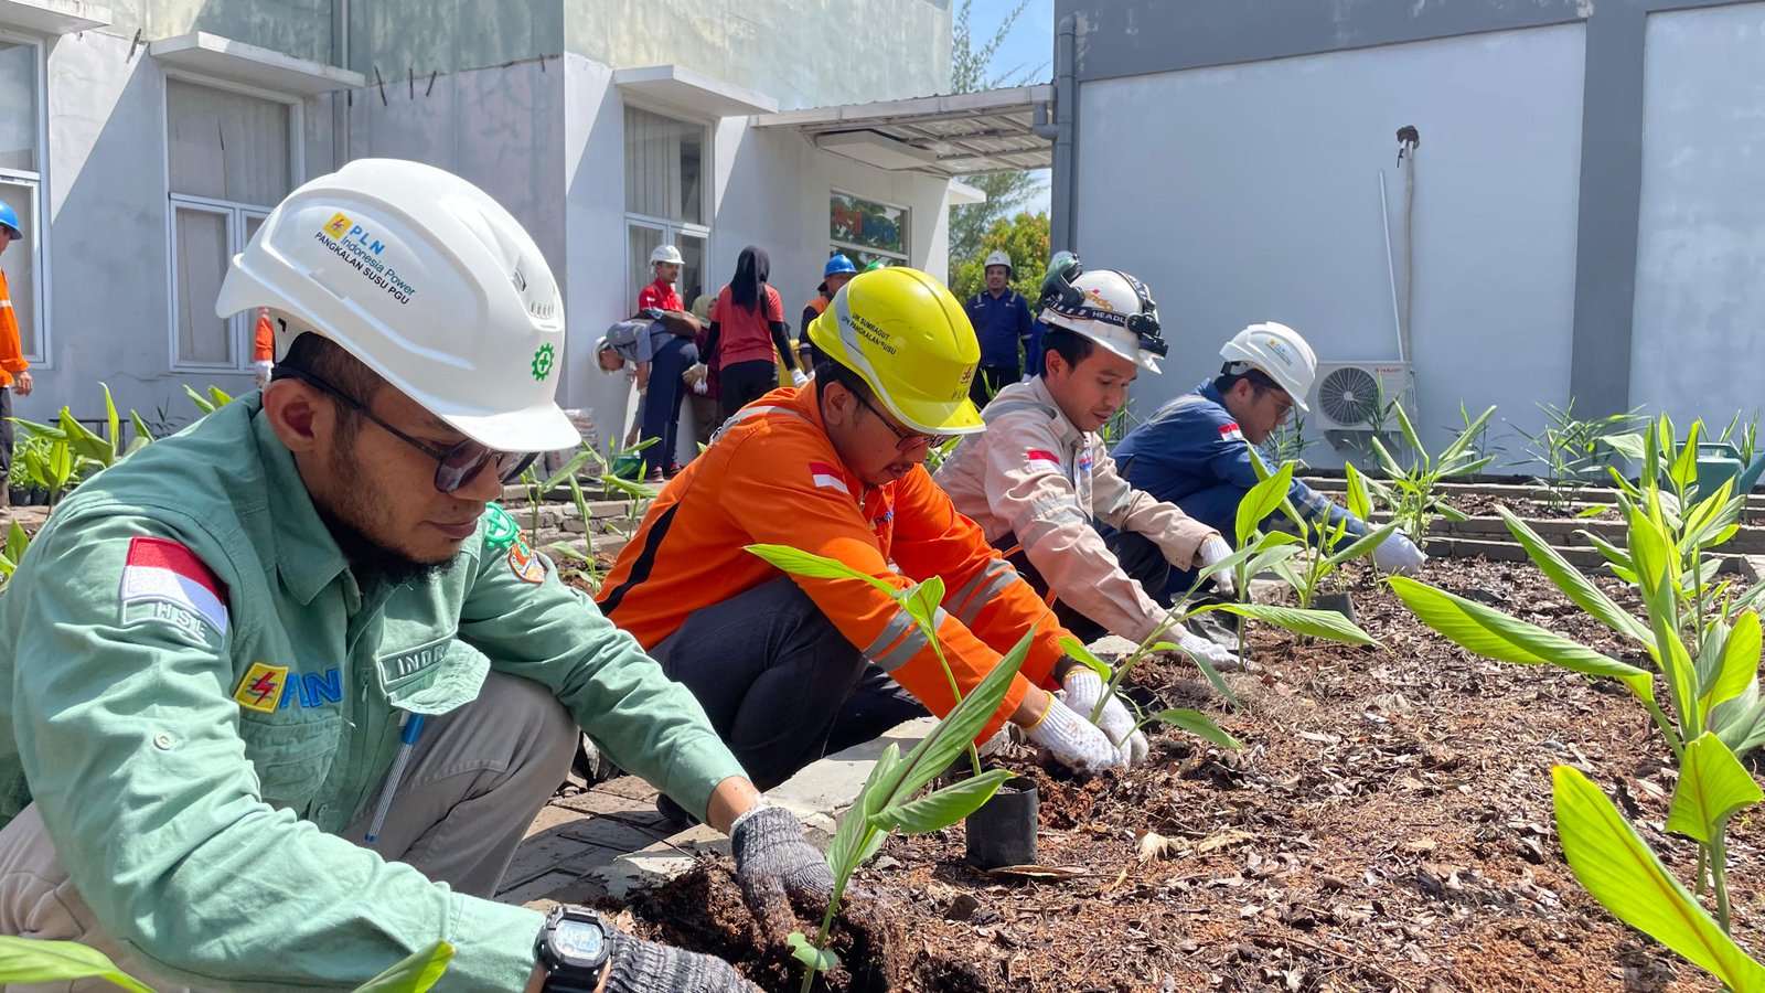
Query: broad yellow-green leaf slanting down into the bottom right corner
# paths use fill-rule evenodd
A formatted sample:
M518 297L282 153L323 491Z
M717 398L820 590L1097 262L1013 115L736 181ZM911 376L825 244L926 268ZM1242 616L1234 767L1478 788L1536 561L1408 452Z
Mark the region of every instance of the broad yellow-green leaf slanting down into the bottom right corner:
M1551 769L1557 836L1574 878L1619 921L1709 970L1735 993L1765 991L1765 966L1747 958L1611 800L1567 765Z

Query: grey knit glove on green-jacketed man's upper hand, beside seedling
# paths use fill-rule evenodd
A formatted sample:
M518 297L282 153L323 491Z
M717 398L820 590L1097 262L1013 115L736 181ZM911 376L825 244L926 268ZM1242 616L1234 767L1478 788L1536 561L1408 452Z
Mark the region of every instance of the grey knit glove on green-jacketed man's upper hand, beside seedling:
M784 807L757 807L729 829L736 882L761 929L778 942L796 928L791 903L821 913L833 899L828 859L803 841L803 825Z

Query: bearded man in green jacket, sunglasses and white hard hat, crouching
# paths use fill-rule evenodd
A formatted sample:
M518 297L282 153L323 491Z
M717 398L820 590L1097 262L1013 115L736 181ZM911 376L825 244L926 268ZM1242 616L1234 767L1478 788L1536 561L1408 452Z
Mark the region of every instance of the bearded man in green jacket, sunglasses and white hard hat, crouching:
M217 311L258 306L272 383L81 486L0 595L0 933L161 988L351 988L447 940L438 989L752 989L487 899L577 728L731 832L770 929L831 889L692 694L489 504L577 440L538 247L457 177L355 161L233 260Z

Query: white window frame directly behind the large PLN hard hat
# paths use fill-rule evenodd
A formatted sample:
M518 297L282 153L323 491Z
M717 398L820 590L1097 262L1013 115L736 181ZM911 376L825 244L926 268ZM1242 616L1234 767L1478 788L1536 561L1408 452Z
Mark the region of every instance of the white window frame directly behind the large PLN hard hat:
M240 94L259 101L282 104L288 108L288 191L293 193L305 182L305 101L291 94L279 94L261 87L251 87L233 80L166 69L161 72L159 88L159 124L161 124L161 187L166 191L166 368L173 373L249 373L251 371L251 334L256 316L251 311L229 318L231 362L191 362L178 355L178 207L191 207L207 212L224 212L228 216L228 258L245 249L245 223L251 217L270 216L275 203L242 203L191 193L171 193L171 81L208 87L229 94ZM286 194L284 194L286 196ZM222 270L222 279L226 277Z

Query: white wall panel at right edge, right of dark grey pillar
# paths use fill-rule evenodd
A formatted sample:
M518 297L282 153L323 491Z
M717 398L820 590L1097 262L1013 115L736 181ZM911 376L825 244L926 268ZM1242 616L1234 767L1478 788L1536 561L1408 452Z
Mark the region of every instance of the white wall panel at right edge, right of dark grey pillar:
M1765 4L1650 14L1631 403L1765 406Z

